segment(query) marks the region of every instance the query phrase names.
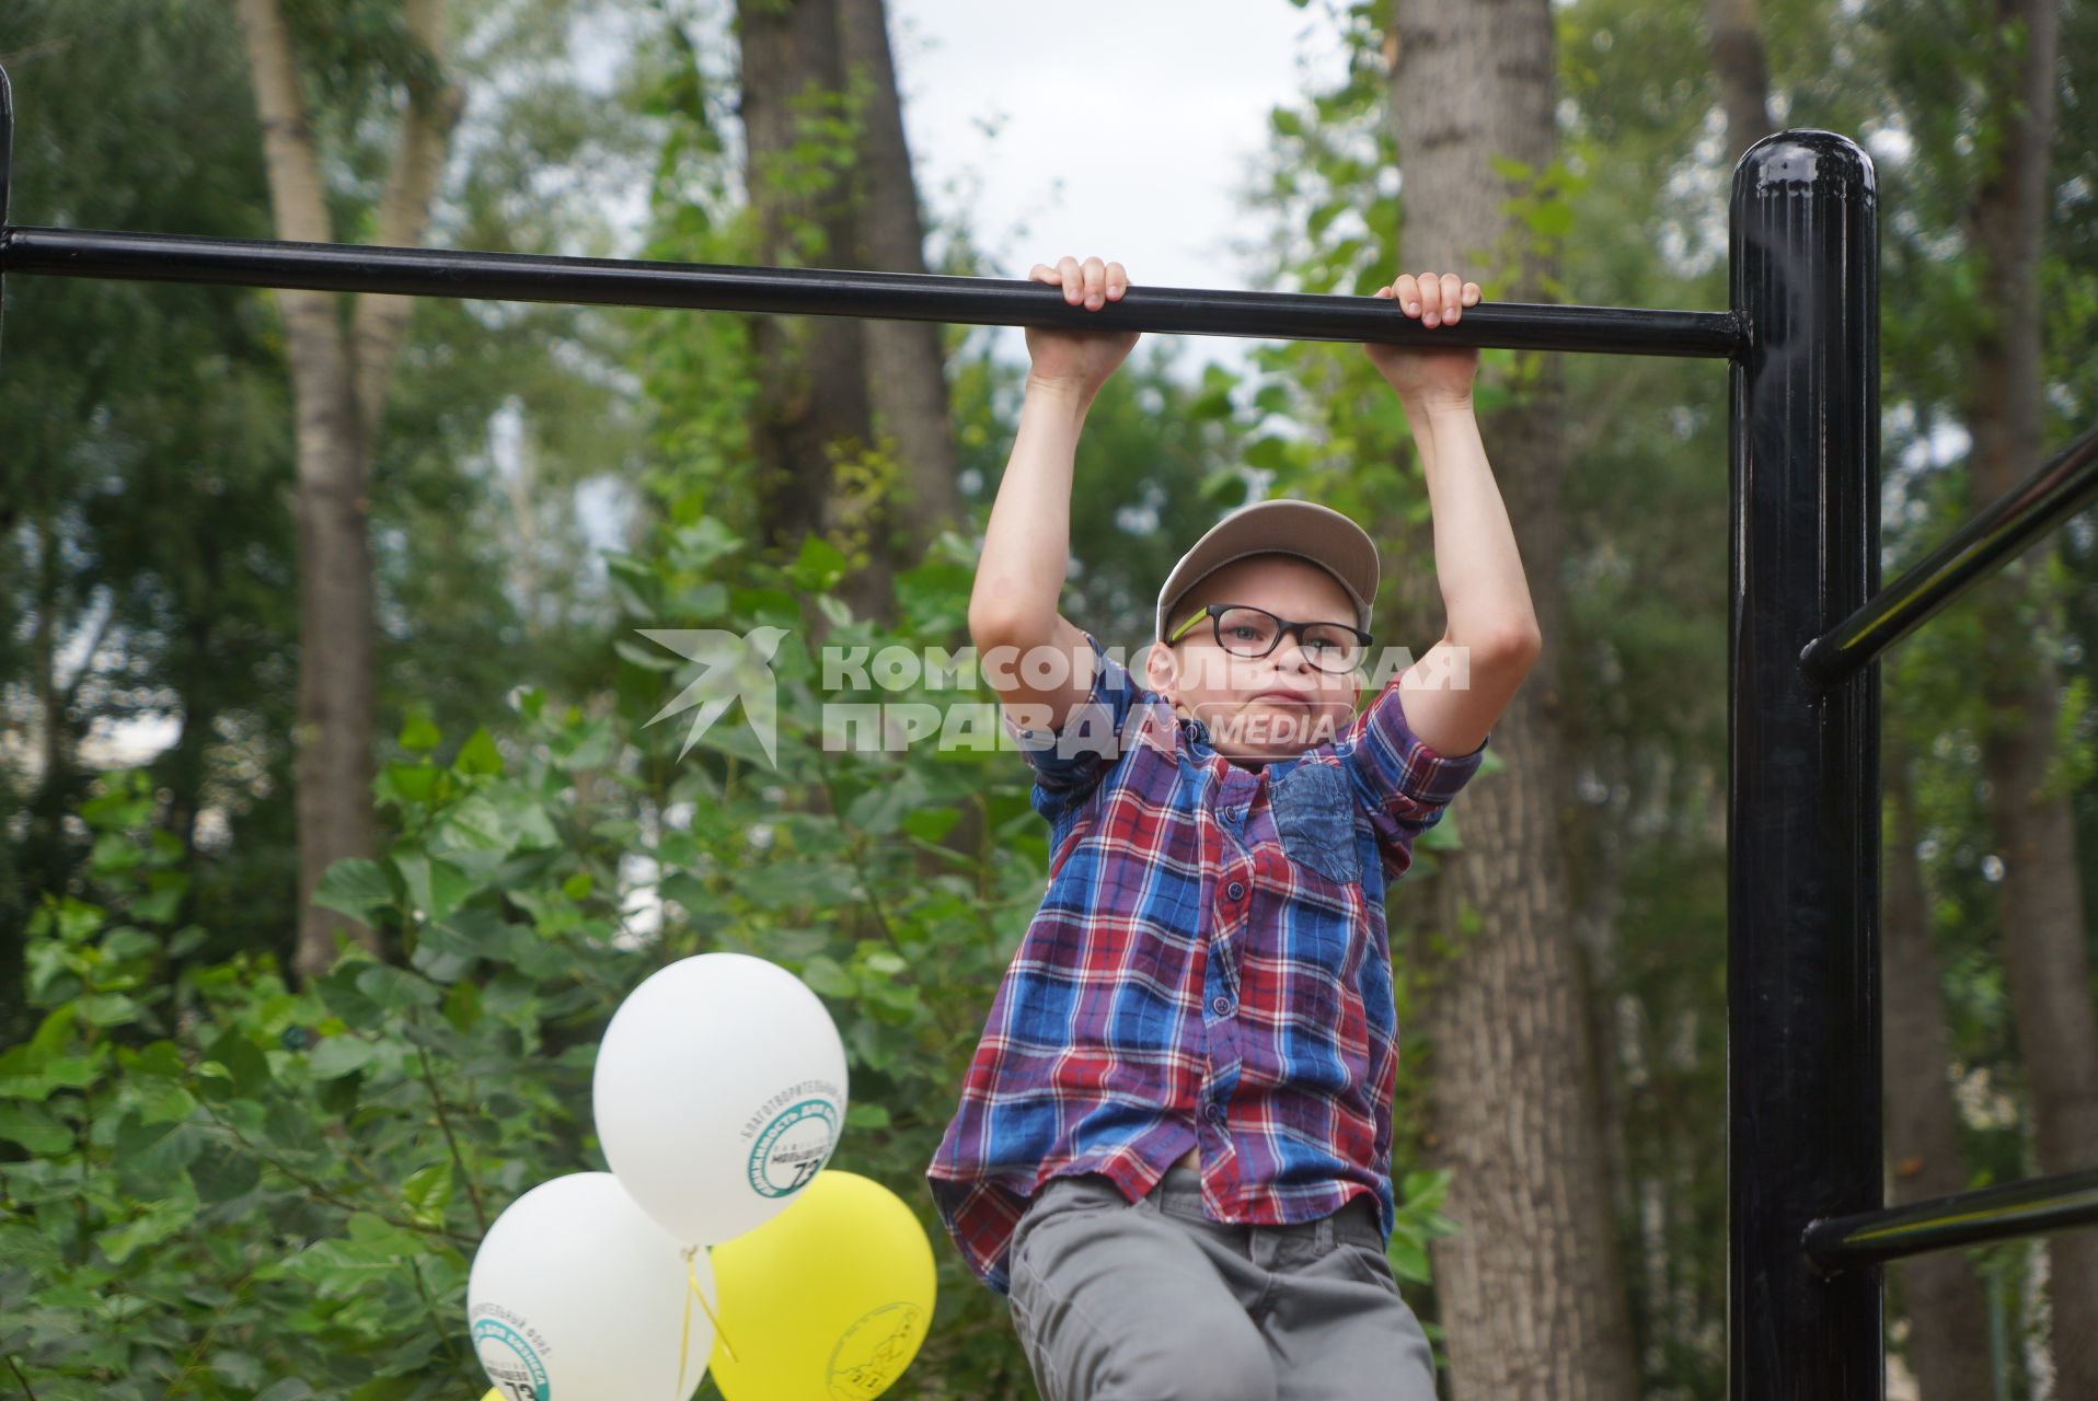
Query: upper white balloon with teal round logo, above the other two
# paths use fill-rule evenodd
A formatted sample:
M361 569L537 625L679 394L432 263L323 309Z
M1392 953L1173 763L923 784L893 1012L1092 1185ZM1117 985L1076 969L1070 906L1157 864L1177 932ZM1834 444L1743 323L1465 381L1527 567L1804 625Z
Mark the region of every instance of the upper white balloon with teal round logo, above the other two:
M678 1240L713 1246L787 1210L845 1124L845 1042L808 986L749 954L680 958L598 1047L598 1141Z

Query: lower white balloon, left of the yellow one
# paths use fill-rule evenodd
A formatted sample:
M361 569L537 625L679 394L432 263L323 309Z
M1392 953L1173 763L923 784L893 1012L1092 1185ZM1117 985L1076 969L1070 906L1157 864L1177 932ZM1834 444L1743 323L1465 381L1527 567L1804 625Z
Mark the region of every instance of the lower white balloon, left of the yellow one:
M705 1250L634 1204L611 1172L539 1183L495 1219L466 1279L474 1355L512 1401L680 1401L707 1372L720 1313ZM690 1317L690 1338L684 1325ZM684 1391L678 1391L680 1342Z

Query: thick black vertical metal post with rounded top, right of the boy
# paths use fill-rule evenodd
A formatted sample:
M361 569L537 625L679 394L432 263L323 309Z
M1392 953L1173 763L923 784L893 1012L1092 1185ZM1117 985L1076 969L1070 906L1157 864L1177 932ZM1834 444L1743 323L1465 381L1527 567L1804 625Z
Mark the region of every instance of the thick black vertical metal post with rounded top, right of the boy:
M1880 667L1802 648L1880 587L1871 159L1769 136L1733 174L1727 625L1727 1367L1731 1401L1884 1395L1880 1271L1808 1265L1811 1219L1880 1189Z

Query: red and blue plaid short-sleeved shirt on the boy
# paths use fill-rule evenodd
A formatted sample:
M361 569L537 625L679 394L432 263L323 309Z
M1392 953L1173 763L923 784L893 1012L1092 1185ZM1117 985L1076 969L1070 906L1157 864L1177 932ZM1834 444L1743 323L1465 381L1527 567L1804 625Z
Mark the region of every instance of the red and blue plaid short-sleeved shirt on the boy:
M1007 1294L1043 1183L1101 1172L1135 1202L1200 1145L1213 1221L1374 1195L1389 1240L1385 889L1485 742L1437 755L1393 677L1334 740L1242 770L1085 638L1093 692L1062 736L1005 721L1051 826L1049 883L925 1170L940 1221Z

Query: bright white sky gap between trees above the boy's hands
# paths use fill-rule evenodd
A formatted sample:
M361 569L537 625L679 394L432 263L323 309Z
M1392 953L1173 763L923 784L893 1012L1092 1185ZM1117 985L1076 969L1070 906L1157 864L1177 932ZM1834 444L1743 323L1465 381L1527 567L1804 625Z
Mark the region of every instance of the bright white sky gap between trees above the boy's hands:
M890 44L921 197L997 275L1097 254L1160 287L1257 285L1229 243L1267 233L1238 208L1267 113L1343 65L1320 0L890 0ZM1257 344L1190 340L1187 373Z

